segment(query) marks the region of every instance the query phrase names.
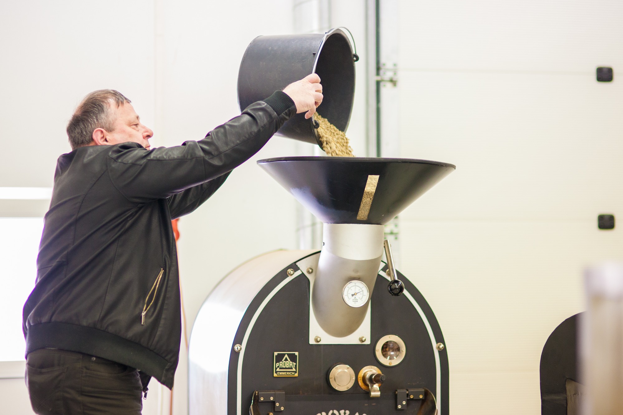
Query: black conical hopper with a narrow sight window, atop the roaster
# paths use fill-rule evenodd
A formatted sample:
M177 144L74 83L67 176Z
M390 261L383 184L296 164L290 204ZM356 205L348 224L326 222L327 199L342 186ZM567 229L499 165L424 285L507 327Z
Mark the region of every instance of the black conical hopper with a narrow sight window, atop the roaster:
M257 164L320 221L378 225L391 221L455 169L408 158L280 157ZM364 206L369 176L373 181L378 176L378 183L371 204Z

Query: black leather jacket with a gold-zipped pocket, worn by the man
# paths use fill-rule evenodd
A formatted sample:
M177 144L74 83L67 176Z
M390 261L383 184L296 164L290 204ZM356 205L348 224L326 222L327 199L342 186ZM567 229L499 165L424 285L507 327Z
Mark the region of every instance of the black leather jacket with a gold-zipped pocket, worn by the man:
M295 112L275 92L201 141L60 156L24 305L26 354L48 347L100 356L172 388L181 317L171 219L206 201Z

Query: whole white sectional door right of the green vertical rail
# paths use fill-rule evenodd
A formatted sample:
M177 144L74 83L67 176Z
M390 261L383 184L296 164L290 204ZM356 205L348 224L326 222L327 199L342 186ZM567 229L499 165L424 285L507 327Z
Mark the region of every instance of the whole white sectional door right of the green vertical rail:
M402 0L399 16L401 156L457 165L401 214L450 411L540 413L541 350L583 310L583 269L623 259L621 230L597 229L623 214L623 4Z

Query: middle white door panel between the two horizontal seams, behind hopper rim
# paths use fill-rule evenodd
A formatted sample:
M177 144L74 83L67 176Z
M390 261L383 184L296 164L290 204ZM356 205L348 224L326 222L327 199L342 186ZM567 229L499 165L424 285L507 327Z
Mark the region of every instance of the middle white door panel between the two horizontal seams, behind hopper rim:
M401 218L596 221L623 205L623 83L403 71L401 85L401 156L457 166Z

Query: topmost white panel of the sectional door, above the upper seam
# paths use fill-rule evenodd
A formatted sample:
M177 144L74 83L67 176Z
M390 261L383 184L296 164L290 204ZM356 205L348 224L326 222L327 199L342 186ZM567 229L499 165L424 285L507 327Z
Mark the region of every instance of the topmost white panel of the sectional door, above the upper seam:
M589 72L621 67L617 0L401 0L401 67Z

